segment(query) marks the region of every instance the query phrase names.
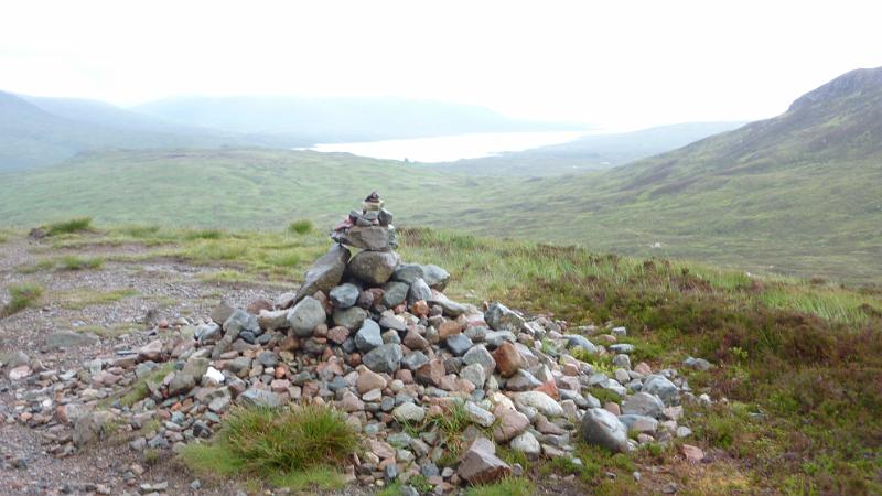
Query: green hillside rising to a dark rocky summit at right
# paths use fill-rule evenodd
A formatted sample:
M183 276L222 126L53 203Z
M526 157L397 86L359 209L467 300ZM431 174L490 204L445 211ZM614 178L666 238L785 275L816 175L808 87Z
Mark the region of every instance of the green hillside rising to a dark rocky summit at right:
M882 280L882 67L772 119L603 173L534 181L506 233ZM455 215L455 213L451 213Z

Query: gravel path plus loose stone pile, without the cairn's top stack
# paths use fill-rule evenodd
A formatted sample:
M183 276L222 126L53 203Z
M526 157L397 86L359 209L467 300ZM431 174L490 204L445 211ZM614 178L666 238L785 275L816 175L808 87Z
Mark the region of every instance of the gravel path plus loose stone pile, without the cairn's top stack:
M28 240L0 250L3 287L61 255ZM677 370L632 364L632 345L617 343L624 327L571 328L499 303L460 304L443 295L441 268L404 265L394 251L365 249L352 260L343 251L332 247L303 285L291 287L204 282L201 274L219 269L169 260L26 274L44 295L0 321L0 487L237 494L236 482L198 481L174 452L209 438L232 405L318 402L345 411L366 439L346 467L354 483L346 494L416 474L448 493L523 474L497 448L578 464L580 435L613 452L688 439L681 402L710 402ZM100 298L108 294L121 296ZM591 356L612 367L592 367ZM148 390L131 398L141 384ZM617 400L601 402L588 388ZM453 441L406 428L453 409L470 427L450 464L442 462ZM687 444L682 456L697 462L704 453ZM677 490L664 471L632 476ZM582 492L567 478L538 490Z

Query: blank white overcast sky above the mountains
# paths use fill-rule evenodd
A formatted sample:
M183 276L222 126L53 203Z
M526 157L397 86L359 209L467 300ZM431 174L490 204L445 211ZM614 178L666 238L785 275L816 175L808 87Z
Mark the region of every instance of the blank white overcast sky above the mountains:
M872 1L7 2L0 89L404 97L636 127L753 120L882 65Z

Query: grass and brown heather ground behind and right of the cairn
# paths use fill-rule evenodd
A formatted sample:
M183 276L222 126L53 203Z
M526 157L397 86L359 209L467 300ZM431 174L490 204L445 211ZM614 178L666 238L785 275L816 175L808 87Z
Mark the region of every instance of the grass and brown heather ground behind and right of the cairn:
M10 236L21 234L10 233ZM140 242L151 257L222 265L226 281L292 281L329 246L318 231L180 231L125 227L50 238L56 248ZM448 293L498 299L574 324L626 324L636 359L675 366L697 392L729 407L696 408L688 442L720 450L698 467L677 448L642 450L632 462L580 448L576 472L592 490L634 494L630 472L650 479L662 465L684 494L873 494L882 490L882 293L786 279L750 278L713 267L593 254L581 248L480 238L429 229L401 234L406 260L435 262L453 276ZM138 261L128 257L121 260ZM688 355L717 363L682 369ZM677 442L679 443L679 442ZM525 462L526 463L526 462ZM614 481L605 473L619 474Z

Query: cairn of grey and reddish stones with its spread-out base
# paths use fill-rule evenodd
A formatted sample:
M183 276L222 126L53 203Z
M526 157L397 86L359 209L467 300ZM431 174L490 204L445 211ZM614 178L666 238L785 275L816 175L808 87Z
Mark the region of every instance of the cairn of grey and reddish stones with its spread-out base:
M523 467L497 456L497 445L578 464L578 436L628 452L690 435L681 402L710 398L693 396L675 369L632 366L634 346L619 343L624 327L568 333L566 322L525 319L497 302L482 309L454 302L442 293L445 270L400 262L390 223L372 195L335 229L338 244L298 292L247 309L220 304L209 319L178 323L192 338L157 339L64 371L19 357L8 364L18 402L7 421L42 429L47 451L65 456L107 435L108 427L139 431L132 450L178 450L211 438L234 403L330 405L365 438L366 450L346 467L351 482L385 485L421 474L435 493L519 474ZM342 244L363 250L351 257ZM574 348L611 355L615 370L576 359ZM148 384L147 398L130 407L112 400L168 362L173 370ZM695 358L684 365L711 366ZM588 392L594 387L620 400L601 405ZM439 466L449 446L427 420L448 414L453 402L471 425L459 461ZM407 425L424 429L411 435ZM141 435L144 427L150 432ZM685 454L700 460L693 448Z

